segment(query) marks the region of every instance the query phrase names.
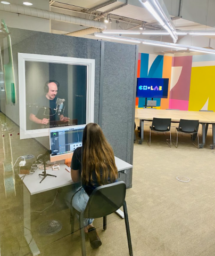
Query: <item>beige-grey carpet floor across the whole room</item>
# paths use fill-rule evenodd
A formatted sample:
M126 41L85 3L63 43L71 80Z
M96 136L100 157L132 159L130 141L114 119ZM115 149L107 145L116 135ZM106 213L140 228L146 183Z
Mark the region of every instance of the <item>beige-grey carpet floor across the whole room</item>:
M19 132L13 123L7 123L14 134ZM147 138L148 126L144 134ZM189 135L179 137L178 148L170 148L165 135L156 133L152 134L151 147L146 140L142 145L137 140L134 143L133 187L127 190L126 201L135 256L215 255L215 150L210 149L211 135L209 129L203 149L195 148ZM18 136L12 137L12 146L14 159L29 149L35 155L42 151L33 140L20 141ZM0 168L1 256L32 255L24 239L23 186L17 171L16 196L5 197L4 173ZM190 181L181 182L176 177L187 177ZM59 190L54 205L43 213L31 213L31 233L40 255L81 255L79 231L73 239L70 235L70 210L64 202L69 189ZM56 191L31 196L31 210L42 211L51 205ZM39 234L39 225L47 219L60 221L61 231L52 236ZM105 231L102 219L96 219L94 225L102 246L93 250L86 236L87 255L129 255L123 219L111 214Z

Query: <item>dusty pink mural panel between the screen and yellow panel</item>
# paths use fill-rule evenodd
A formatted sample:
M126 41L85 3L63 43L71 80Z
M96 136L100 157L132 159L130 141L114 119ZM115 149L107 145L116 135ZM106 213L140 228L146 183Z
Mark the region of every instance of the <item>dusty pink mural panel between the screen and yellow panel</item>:
M182 67L182 70L178 82L170 91L170 99L188 101L189 87L191 85L192 56L172 58L172 67Z

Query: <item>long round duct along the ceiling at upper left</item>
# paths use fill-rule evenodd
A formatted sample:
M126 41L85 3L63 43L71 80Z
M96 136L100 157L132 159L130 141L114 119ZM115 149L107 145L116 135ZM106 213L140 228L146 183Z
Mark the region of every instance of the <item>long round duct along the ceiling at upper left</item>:
M46 10L37 9L34 7L28 7L28 6L24 6L24 5L0 4L0 10L5 11L5 12L12 12L12 13L28 15L31 17L63 21L63 22L68 22L68 23L72 23L72 24L76 24L76 25L85 26L85 27L96 28L96 31L97 31L97 29L99 31L106 29L105 23L100 22L100 21L88 20L88 19L79 18L79 17L67 15L67 14L46 11Z

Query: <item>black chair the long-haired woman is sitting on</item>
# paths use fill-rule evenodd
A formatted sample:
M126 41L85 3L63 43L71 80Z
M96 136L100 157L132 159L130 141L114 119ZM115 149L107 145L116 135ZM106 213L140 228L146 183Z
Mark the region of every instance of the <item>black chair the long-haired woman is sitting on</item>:
M85 232L84 218L96 219L103 217L103 230L106 230L107 215L117 211L123 205L125 214L126 233L128 239L129 255L133 256L131 245L130 228L128 222L128 212L126 206L126 184L123 181L114 182L108 185L97 187L89 197L86 209L84 212L78 212L74 207L71 207L71 233L74 233L75 215L79 216L79 228L81 235L81 252L82 256L86 256L85 248ZM116 252L117 254L117 252Z

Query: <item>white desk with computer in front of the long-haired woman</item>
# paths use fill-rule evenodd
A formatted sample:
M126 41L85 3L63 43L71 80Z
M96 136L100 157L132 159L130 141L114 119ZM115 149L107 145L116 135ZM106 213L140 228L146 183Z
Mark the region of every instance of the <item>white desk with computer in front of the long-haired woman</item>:
M125 171L133 167L133 165L122 161L118 157L115 157L115 164L117 165L118 172ZM57 177L46 177L42 183L39 183L43 177L39 176L43 170L37 169L34 174L26 175L23 179L23 205L24 205L24 236L30 247L33 255L40 254L34 238L31 235L31 211L30 211L30 196L44 191L52 190L55 188L65 187L74 183L71 179L71 173L65 170L67 165L61 164L59 171L46 170L46 173L56 175ZM23 174L19 175L20 178ZM121 218L124 218L124 214L121 210L116 212Z

